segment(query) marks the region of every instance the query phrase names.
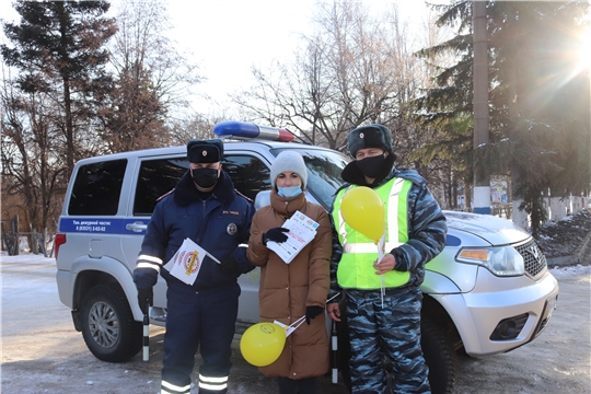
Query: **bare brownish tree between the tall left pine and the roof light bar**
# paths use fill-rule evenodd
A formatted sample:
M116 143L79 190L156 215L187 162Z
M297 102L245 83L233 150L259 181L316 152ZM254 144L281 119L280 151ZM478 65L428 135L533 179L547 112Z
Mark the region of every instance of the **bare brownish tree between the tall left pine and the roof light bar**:
M105 140L113 152L170 144L167 121L188 107L201 80L197 66L166 37L172 26L161 0L121 2L117 23L111 57L117 77L102 116Z

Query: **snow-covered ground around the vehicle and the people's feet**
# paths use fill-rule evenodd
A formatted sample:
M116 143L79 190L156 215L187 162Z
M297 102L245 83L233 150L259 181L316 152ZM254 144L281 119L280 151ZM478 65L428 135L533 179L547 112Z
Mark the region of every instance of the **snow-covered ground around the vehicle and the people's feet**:
M2 253L0 266L1 393L159 392L162 327L150 329L149 362L141 355L126 363L99 361L73 329L69 309L59 302L55 258ZM591 266L553 267L551 273L559 282L560 296L548 328L532 344L508 354L462 357L454 393L590 393ZM232 392L276 393L275 382L247 364L234 348ZM318 390L346 393L343 385L327 379Z

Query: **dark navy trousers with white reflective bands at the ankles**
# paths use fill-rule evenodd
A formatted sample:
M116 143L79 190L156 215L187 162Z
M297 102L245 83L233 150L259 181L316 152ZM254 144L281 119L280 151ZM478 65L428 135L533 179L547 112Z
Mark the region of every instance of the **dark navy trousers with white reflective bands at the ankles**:
M169 283L162 393L190 393L199 348L199 394L227 393L239 296L237 283L202 291Z

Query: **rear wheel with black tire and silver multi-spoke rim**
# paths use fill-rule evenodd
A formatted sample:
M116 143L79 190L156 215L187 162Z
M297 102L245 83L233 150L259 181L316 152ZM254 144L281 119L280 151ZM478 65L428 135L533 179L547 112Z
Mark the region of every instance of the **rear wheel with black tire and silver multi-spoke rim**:
M99 360L123 362L142 346L142 325L134 320L120 290L99 285L90 289L80 306L82 336Z

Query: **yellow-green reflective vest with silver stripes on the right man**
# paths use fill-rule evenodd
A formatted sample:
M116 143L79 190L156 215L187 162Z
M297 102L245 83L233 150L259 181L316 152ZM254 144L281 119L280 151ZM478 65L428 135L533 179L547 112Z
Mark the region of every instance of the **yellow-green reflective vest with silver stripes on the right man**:
M385 246L390 252L408 241L408 190L413 182L394 177L374 189L384 204ZM355 188L351 185L340 190L333 208L338 240L343 245L343 256L337 268L337 282L344 289L374 290L382 287L380 275L375 275L373 263L378 259L378 245L366 235L352 229L343 219L340 202L345 194ZM410 273L391 270L384 274L386 288L399 287L408 282Z

